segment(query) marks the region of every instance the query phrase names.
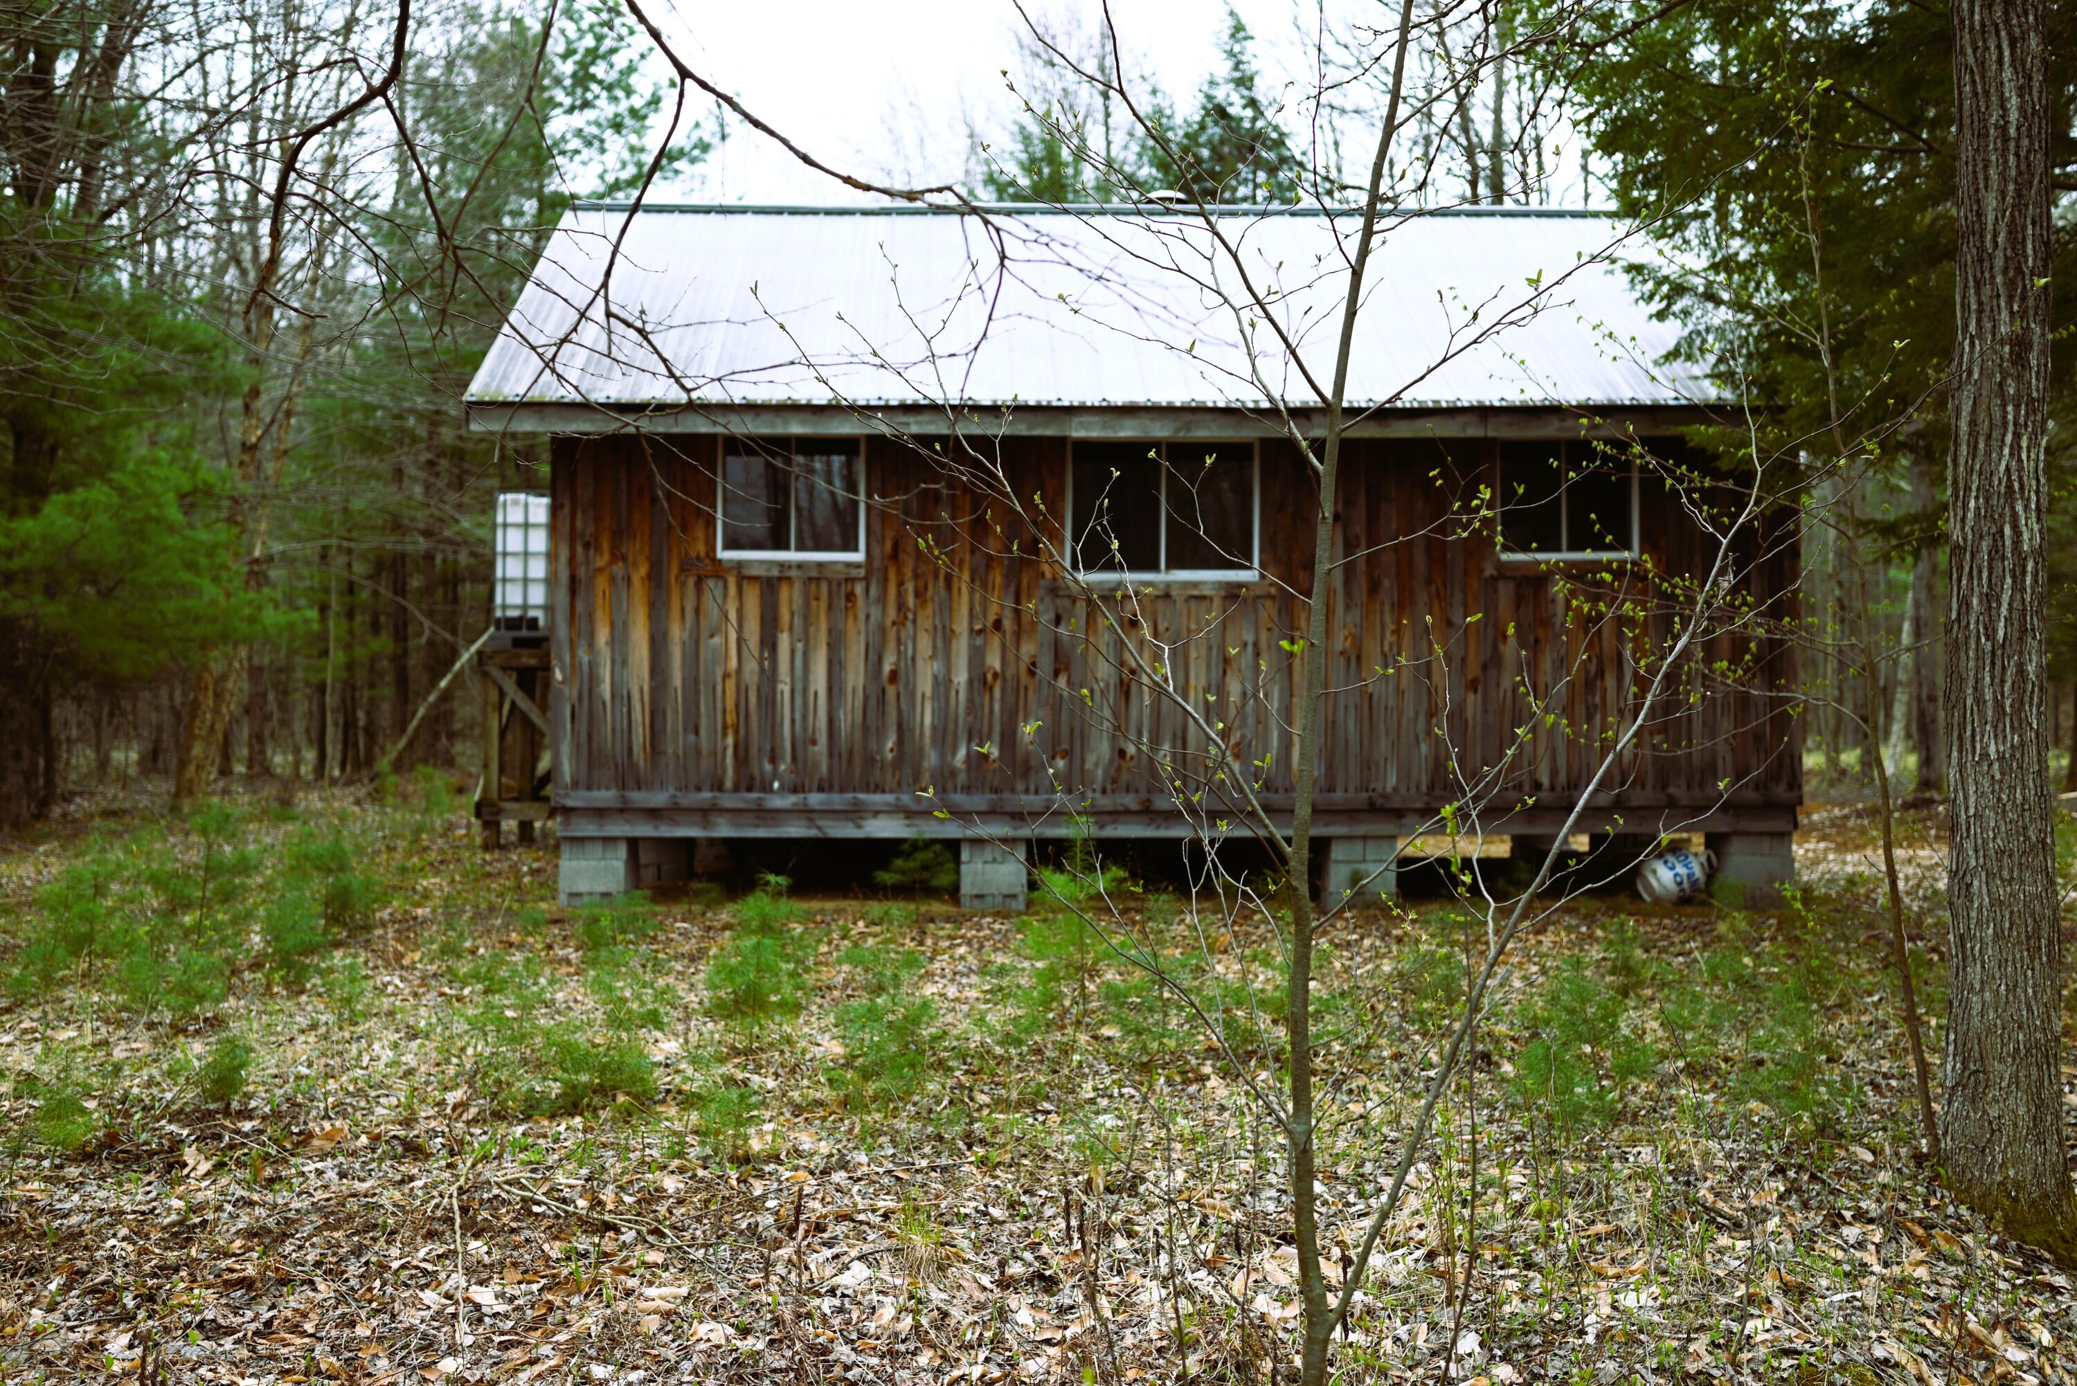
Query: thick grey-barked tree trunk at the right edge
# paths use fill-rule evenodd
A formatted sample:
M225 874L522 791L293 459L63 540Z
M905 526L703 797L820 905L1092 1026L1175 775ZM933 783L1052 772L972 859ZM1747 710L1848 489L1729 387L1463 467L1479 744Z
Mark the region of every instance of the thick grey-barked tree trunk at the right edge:
M2048 794L2044 0L1957 0L1954 453L1946 717L1948 1180L2077 1259L2062 1160L2062 935Z

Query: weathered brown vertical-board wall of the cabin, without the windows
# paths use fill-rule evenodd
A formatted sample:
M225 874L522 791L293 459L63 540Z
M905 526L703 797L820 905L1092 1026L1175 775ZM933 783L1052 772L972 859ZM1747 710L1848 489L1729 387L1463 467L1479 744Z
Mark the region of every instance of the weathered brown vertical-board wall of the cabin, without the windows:
M1068 443L1001 449L1016 495L1045 497L1057 517ZM1346 692L1327 711L1323 835L1402 833L1466 802L1487 804L1485 831L1552 831L1635 709L1643 675L1622 621L1568 619L1549 567L1446 536L1450 505L1489 478L1491 457L1481 441L1350 443L1340 544L1356 557L1327 586L1329 679ZM908 447L866 443L866 490L887 503L866 511L862 563L719 559L714 465L710 436L557 441L550 723L565 837L906 837L974 823L1028 837L1066 833L1070 806L1095 831L1182 833L1142 748L1203 742L1128 671L1126 640L1171 646L1184 696L1225 723L1242 765L1267 761L1261 800L1288 810L1313 538L1290 447L1261 445L1261 580L1144 584L1144 623L1126 630L1093 619L999 503ZM1639 532L1641 561L1591 571L1664 605L1647 574L1697 571L1703 536L1649 482ZM1786 615L1795 542L1761 538L1770 557L1751 592ZM1647 644L1672 630L1655 611ZM1581 827L1792 827L1795 652L1743 640L1714 636L1693 659L1757 655L1747 688L1672 700ZM1556 721L1531 715L1525 682L1564 688ZM1502 773L1468 792L1485 767Z

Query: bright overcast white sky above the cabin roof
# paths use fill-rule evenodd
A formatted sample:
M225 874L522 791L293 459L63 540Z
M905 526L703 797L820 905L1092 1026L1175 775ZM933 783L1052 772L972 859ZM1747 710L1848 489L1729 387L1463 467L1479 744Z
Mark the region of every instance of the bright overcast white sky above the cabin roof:
M1255 31L1265 96L1304 62L1298 4L1315 12L1304 0L1234 4ZM949 181L964 168L968 125L999 131L1016 112L1001 71L1018 66L1024 21L1009 0L665 0L663 8L669 21L658 23L702 77L839 168ZM1101 19L1088 0L1034 8L1072 10L1088 29ZM1225 10L1225 0L1111 4L1128 60L1180 106L1219 60ZM660 191L698 202L860 199L741 125L692 179Z

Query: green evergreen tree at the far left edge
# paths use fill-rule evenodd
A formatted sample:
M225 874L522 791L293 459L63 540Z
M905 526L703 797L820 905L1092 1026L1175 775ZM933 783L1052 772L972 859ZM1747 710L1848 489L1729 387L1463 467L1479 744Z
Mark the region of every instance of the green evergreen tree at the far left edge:
M228 389L224 343L137 266L166 172L120 98L147 17L17 8L0 60L0 829L58 792L66 692L266 625L220 567L226 497L185 409Z

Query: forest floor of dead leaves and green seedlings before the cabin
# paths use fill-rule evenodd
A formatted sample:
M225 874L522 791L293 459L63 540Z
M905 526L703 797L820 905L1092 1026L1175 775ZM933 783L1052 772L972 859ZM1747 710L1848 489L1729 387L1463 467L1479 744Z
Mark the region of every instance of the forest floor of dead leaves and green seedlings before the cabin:
M1294 1380L1255 1074L1057 906L565 912L548 850L407 790L0 856L0 1378ZM1940 848L1903 825L1915 927ZM1797 850L1782 908L1595 894L1522 939L1338 1380L2077 1382L2069 1274L1917 1155L1863 812ZM1483 939L1431 896L1327 939L1336 1280ZM1267 923L1120 898L1267 1074Z

